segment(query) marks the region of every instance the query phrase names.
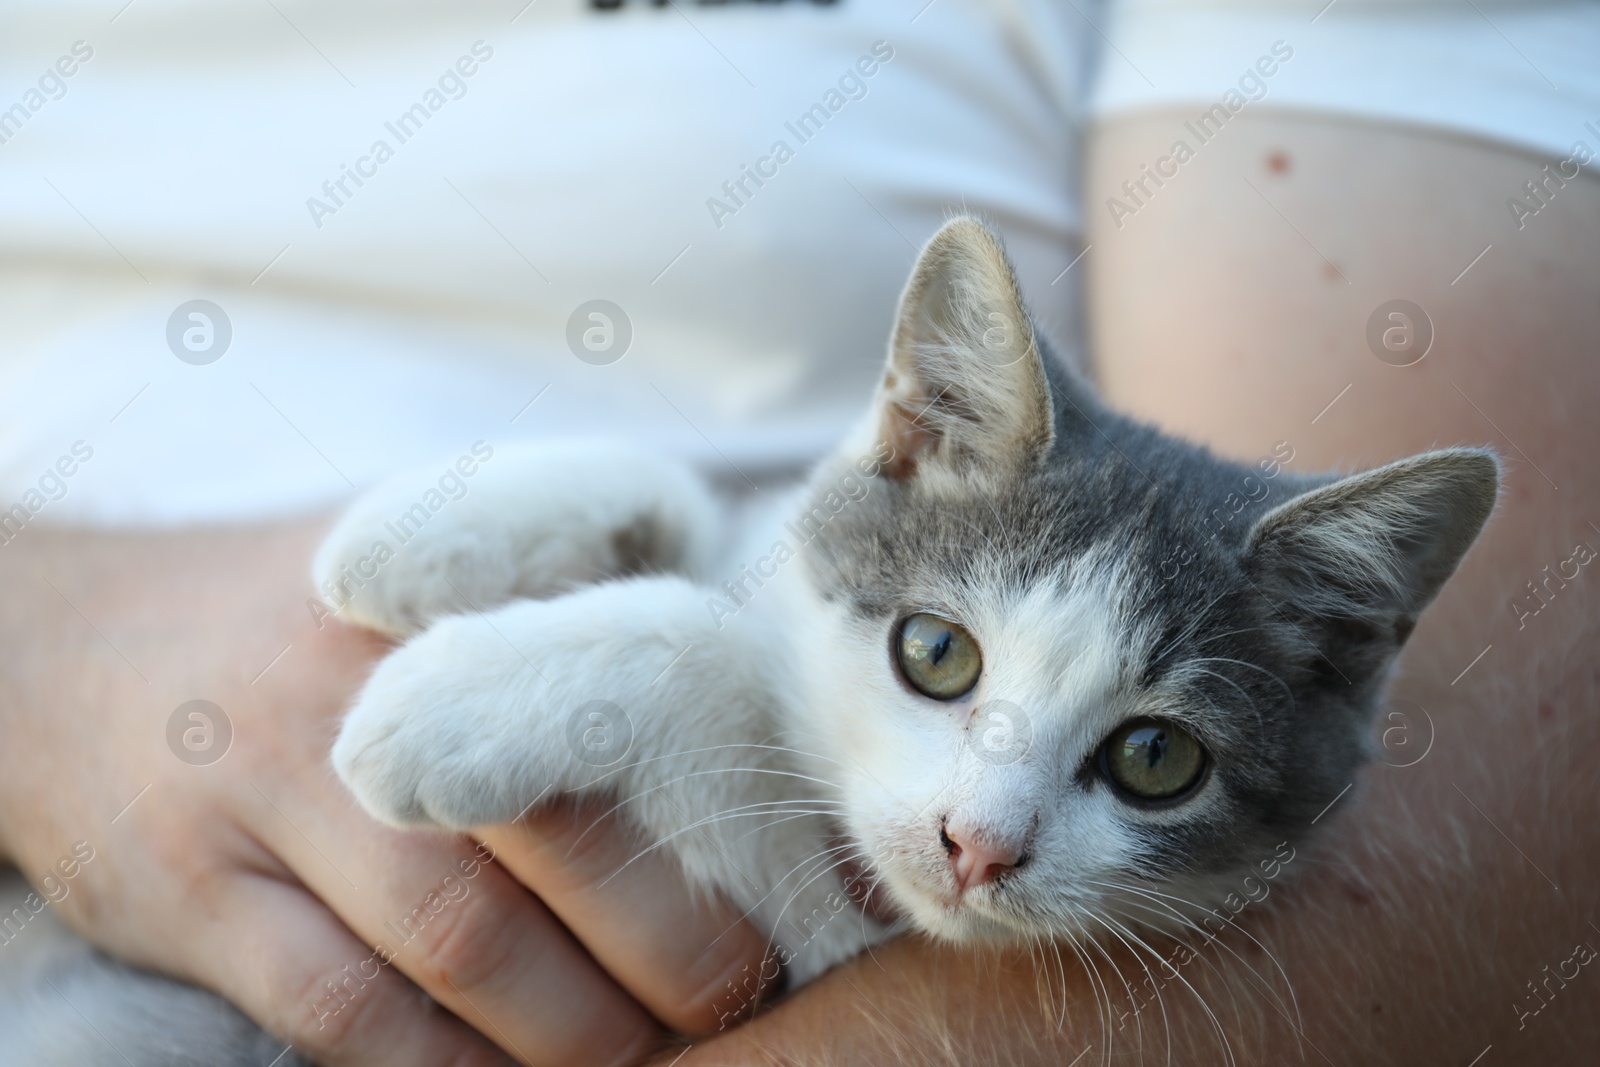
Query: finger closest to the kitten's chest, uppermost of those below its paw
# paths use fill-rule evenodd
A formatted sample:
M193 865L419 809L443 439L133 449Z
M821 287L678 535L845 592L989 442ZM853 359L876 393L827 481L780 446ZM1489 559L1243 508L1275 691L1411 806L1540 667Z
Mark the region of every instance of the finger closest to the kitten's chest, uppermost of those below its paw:
M595 960L680 1033L710 1033L776 993L766 939L739 912L691 894L683 872L610 805L557 805L480 837ZM632 861L632 862L630 862Z

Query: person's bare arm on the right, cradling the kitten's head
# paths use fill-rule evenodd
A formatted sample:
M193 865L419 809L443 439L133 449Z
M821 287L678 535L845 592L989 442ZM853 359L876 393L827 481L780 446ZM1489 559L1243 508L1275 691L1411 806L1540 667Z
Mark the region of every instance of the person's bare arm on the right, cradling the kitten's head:
M1115 229L1098 205L1168 133L1158 118L1128 123L1094 152L1086 267L1114 406L1242 459L1288 442L1291 469L1306 472L1451 443L1486 443L1507 461L1488 533L1402 659L1390 707L1426 717L1378 725L1400 733L1333 805L1325 835L1293 843L1269 901L1181 979L1114 937L1104 953L1085 949L1091 966L1066 944L1000 961L898 944L685 1065L1059 1065L1102 1062L1107 1048L1112 1062L1165 1062L1168 1033L1173 1062L1226 1062L1222 1035L1242 1064L1467 1064L1490 1045L1506 1049L1498 1062L1570 1062L1592 1048L1595 1021L1574 993L1520 1013L1544 1003L1526 982L1555 973L1578 942L1600 945L1589 926L1600 877L1595 577L1554 581L1554 593L1528 600L1542 605L1536 617L1512 601L1578 541L1600 547L1589 526L1600 525L1600 424L1589 414L1600 406L1600 186L1568 190L1562 227L1507 235L1494 213L1530 166L1522 157L1416 131L1242 117L1182 187ZM1266 187L1293 224L1240 181L1275 152L1302 179ZM1392 195L1419 187L1427 210ZM1472 286L1453 286L1491 242ZM1437 330L1411 368L1379 362L1365 336L1371 310L1402 294Z

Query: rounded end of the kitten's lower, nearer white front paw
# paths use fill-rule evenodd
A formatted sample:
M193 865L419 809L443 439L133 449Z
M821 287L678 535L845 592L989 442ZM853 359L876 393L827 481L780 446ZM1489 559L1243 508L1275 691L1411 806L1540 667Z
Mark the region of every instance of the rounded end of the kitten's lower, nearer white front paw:
M496 648L483 617L459 616L378 664L333 745L370 814L466 830L515 819L552 790L558 773L541 765L558 753L530 744L528 728L544 683L533 664L486 654Z

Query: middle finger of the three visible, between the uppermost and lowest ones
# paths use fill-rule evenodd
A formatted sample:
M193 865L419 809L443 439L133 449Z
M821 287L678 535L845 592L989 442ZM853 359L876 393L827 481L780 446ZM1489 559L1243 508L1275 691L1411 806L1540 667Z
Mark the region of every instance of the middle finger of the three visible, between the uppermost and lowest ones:
M346 797L315 806L306 792L286 793L266 814L269 846L317 897L522 1062L611 1067L659 1041L650 1013L490 849L392 830Z

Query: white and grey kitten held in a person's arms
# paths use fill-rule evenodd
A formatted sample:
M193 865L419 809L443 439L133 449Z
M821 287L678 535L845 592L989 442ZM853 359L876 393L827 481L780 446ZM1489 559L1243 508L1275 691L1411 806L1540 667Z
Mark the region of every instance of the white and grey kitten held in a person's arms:
M1024 941L1218 905L1350 782L1498 466L1296 477L1110 413L958 218L866 418L736 534L618 445L498 450L405 522L435 477L358 499L317 557L347 619L408 638L341 777L406 827L608 797L802 984L885 912Z

